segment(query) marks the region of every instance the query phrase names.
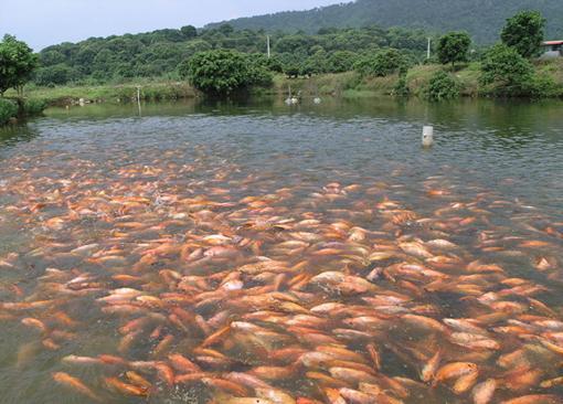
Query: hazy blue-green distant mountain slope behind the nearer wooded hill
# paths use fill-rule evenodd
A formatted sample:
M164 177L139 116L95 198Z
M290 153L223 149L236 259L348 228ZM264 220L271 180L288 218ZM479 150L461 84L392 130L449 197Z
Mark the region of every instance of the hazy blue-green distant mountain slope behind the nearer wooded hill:
M548 36L563 36L562 0L357 0L310 11L280 12L229 21L237 29L317 32L328 26L418 28L468 31L478 43L498 39L507 18L533 9L548 17ZM210 25L210 26L216 26Z

